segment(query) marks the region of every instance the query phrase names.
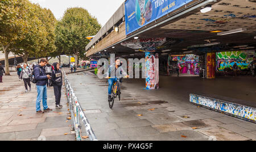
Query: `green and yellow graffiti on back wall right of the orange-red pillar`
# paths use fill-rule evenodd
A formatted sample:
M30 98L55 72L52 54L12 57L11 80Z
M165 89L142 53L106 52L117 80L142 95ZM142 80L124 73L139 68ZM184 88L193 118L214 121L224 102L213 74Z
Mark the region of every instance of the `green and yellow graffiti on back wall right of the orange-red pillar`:
M254 51L230 51L230 52L218 52L217 58L217 70L224 71L224 69L232 69L236 63L240 70L249 69L251 62L255 57Z

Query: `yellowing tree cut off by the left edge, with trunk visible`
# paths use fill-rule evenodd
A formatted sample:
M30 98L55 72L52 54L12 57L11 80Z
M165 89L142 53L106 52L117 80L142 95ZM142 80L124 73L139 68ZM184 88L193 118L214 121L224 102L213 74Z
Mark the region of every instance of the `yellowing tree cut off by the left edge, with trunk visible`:
M6 75L9 72L9 53L15 41L23 39L22 32L27 31L28 24L24 22L26 17L27 0L1 0L0 1L0 44L2 52L5 53L5 69Z

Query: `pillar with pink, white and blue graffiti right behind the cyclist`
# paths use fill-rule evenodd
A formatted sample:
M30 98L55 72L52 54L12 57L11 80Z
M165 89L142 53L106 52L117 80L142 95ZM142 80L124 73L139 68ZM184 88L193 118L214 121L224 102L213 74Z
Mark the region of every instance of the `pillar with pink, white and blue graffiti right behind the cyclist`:
M145 52L146 90L159 88L159 58L158 53Z

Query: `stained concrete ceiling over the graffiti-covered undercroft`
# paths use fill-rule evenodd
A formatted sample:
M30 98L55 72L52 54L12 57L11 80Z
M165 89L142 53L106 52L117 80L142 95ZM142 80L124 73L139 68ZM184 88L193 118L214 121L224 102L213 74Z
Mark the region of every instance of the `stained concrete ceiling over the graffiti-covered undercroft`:
M188 50L194 50L194 54L201 54L209 51L238 50L234 48L238 45L248 45L256 47L256 1L255 0L222 0L212 5L212 10L207 13L201 13L200 9L164 23L162 26L152 28L139 34L139 39L151 37L166 37L167 43L159 47L156 52L171 49L171 54L181 54ZM230 35L217 36L217 33L210 33L214 30L229 31L237 28L246 28L247 31L233 33ZM133 38L127 40L130 41ZM175 42L175 43L173 43ZM220 45L210 47L193 47L193 45L202 45L208 43L220 42ZM187 50L186 50L187 49ZM250 50L255 48L250 48ZM245 49L246 50L246 49ZM109 53L115 53L123 57L142 57L144 53L135 52L122 46L115 45L114 49L95 56L106 56Z

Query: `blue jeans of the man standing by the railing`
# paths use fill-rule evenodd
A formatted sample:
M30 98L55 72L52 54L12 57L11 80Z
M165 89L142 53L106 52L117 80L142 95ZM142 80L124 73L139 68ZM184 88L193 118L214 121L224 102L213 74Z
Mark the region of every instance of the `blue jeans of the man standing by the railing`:
M36 90L38 91L38 97L36 98L36 111L40 111L40 102L43 100L44 110L48 108L47 106L47 87L44 86L36 86Z

